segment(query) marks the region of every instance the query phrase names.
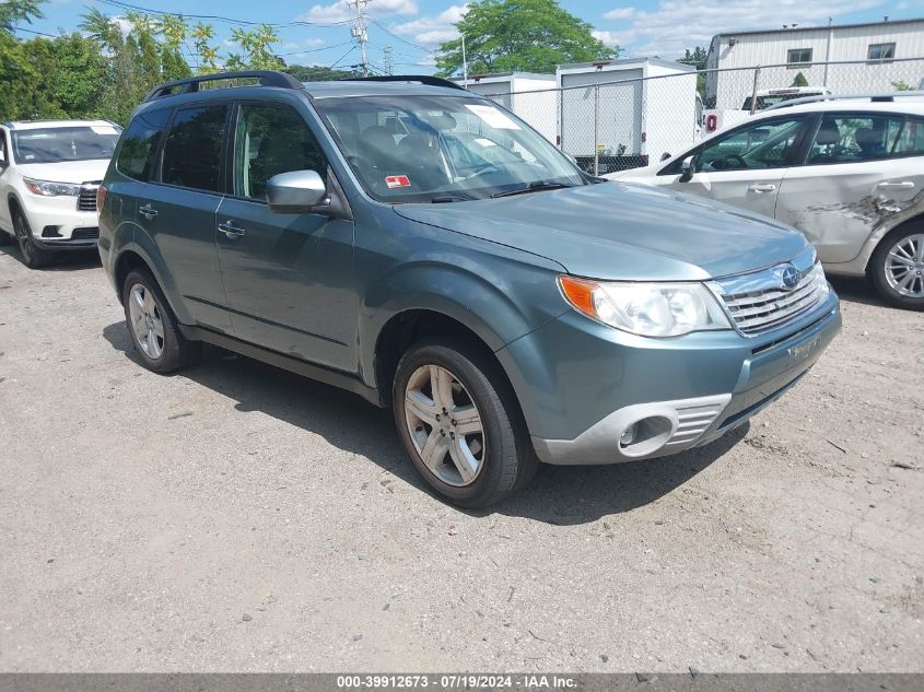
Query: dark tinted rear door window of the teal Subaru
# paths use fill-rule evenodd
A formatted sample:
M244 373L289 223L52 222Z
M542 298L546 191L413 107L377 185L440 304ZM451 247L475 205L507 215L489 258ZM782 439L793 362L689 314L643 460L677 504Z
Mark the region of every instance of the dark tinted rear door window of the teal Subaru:
M164 143L161 183L220 191L222 138L227 105L177 110Z

